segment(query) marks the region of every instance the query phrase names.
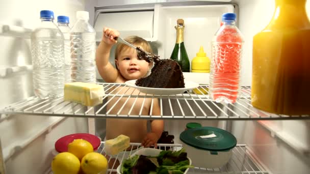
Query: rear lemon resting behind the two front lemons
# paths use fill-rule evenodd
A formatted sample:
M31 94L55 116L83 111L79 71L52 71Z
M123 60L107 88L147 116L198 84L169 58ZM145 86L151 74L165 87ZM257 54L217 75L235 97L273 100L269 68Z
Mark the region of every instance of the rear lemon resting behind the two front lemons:
M68 152L75 155L80 161L86 154L93 151L94 149L91 143L84 139L74 139L68 144Z

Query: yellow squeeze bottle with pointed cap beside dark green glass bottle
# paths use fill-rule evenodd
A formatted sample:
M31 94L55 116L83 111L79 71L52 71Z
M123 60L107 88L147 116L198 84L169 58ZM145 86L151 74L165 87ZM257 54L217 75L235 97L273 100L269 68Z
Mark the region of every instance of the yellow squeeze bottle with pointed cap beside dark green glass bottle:
M210 73L210 59L206 56L202 46L200 46L199 52L196 53L196 57L192 60L192 72ZM195 94L208 94L209 91L208 88L199 88L199 90L194 89L193 92Z

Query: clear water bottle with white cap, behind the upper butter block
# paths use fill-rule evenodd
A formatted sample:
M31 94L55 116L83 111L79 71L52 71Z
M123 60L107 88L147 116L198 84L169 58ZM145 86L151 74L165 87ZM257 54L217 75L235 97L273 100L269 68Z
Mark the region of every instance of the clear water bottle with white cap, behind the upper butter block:
M70 31L71 40L71 79L73 82L96 82L96 41L95 30L88 23L86 11L76 12L77 21Z

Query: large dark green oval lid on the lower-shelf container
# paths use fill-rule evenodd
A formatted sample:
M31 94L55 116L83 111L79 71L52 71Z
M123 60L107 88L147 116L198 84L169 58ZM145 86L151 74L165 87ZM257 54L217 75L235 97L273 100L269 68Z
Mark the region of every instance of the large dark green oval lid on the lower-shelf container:
M189 146L208 151L227 151L237 144L233 134L215 127L198 127L183 131L180 140Z

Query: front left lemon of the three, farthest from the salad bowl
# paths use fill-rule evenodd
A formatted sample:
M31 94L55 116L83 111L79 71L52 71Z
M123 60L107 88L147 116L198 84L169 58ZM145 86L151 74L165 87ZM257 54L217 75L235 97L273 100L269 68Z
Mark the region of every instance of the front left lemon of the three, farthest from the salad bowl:
M51 170L54 174L77 174L80 166L80 160L68 152L56 155L51 162Z

